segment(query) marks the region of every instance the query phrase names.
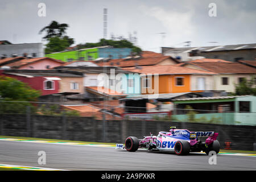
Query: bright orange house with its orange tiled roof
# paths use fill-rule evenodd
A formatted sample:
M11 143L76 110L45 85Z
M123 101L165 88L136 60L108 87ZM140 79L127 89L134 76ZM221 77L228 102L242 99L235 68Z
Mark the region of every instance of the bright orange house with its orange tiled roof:
M164 94L182 92L203 92L192 89L192 76L208 79L216 73L198 69L176 67L174 65L155 65L147 67L123 68L127 71L141 73L141 94ZM152 76L151 76L152 75Z

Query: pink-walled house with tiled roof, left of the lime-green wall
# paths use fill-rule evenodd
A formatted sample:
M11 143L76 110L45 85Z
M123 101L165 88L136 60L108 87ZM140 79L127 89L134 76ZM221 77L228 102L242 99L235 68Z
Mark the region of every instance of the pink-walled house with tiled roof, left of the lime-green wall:
M5 66L11 67L12 69L51 69L64 63L64 61L49 57L36 57L15 61L14 63L6 64Z

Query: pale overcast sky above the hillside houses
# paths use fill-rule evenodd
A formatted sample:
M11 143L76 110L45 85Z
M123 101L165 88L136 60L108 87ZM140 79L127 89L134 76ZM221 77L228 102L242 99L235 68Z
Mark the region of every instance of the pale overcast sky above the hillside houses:
M46 16L38 16L38 4ZM208 7L215 3L217 16ZM255 0L1 0L0 40L11 43L42 42L38 32L52 20L69 24L67 35L75 44L103 38L103 9L108 9L110 35L128 37L137 31L137 45L160 51L160 46L218 46L256 43ZM166 32L163 39L160 32ZM209 43L218 42L218 43Z

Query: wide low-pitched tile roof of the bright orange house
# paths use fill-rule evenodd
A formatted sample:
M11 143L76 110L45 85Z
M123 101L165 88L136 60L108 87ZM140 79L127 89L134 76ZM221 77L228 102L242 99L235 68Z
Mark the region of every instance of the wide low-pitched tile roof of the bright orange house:
M122 68L126 71L146 73L146 74L159 74L159 75L214 75L215 73L209 71L200 71L198 69L176 67L175 65L155 65L139 68Z

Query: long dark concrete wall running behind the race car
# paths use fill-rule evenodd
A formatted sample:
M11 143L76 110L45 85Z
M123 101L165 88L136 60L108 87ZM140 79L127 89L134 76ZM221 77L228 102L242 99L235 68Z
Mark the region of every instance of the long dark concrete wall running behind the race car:
M171 121L99 121L87 117L47 116L33 114L0 114L0 135L88 142L122 143L129 136L143 138L150 132L168 131L170 126L189 131L219 133L221 148L232 142L233 150L253 150L256 126L215 125Z

